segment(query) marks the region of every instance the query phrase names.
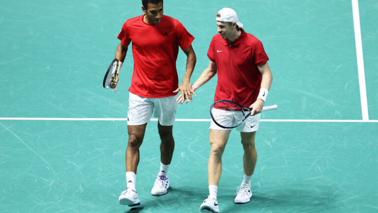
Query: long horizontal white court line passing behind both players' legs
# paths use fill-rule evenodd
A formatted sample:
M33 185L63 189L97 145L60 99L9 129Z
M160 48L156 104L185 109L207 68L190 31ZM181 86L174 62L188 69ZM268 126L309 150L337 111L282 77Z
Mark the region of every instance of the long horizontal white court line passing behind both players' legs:
M22 118L22 117L0 117L0 120L51 120L51 121L127 121L127 118ZM158 121L152 118L151 121ZM183 119L176 121L189 122L210 122L211 119ZM321 120L321 119L261 119L261 122L343 122L343 123L378 123L378 120Z

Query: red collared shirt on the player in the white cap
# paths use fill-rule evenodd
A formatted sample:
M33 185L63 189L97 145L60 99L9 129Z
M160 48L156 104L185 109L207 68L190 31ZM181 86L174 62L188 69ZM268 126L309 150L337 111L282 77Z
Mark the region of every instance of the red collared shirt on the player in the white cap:
M218 84L214 102L234 101L251 106L261 85L257 66L269 60L260 40L244 32L230 44L220 34L213 36L207 56L217 64Z

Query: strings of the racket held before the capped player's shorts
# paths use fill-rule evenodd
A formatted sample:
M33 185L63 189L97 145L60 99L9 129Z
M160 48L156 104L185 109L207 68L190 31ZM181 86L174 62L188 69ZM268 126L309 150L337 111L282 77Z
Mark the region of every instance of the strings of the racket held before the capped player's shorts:
M241 124L248 112L240 106L230 102L218 102L212 107L214 120L224 127L235 127Z

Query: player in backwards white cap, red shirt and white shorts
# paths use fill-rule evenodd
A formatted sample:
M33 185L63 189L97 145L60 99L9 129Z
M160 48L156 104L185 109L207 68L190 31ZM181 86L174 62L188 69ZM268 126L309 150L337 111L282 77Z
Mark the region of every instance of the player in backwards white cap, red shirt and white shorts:
M252 116L236 128L240 131L244 149L244 179L234 201L247 203L252 197L251 178L257 159L254 138L260 120L259 113L273 77L261 41L241 28L243 24L239 22L236 12L231 8L223 8L217 13L216 20L219 34L210 43L207 53L210 64L193 83L192 90L198 89L218 72L214 101L231 100L253 108ZM222 170L221 157L230 132L230 129L223 129L214 122L210 125L209 196L201 204L201 212L219 213L217 192Z

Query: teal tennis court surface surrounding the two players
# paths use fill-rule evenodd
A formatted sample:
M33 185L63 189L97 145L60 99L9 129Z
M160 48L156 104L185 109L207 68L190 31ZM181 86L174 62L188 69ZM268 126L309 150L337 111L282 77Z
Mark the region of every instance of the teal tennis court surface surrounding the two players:
M239 133L223 155L221 213L378 212L378 3L375 0L164 0L195 37L194 82L207 67L215 14L236 10L270 58L273 84L257 132L253 197L233 203L243 178ZM129 49L119 92L102 88L116 38L141 1L0 3L0 212L197 213L208 195L209 107L216 78L178 107L171 189L151 195L157 121L141 146L140 208L126 188ZM179 81L186 57L177 60Z

